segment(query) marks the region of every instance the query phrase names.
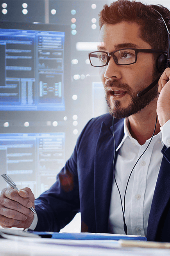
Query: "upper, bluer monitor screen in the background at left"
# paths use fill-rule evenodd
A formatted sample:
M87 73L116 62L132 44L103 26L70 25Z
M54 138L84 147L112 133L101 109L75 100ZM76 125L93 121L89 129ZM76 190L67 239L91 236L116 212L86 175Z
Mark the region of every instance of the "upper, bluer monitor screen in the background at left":
M64 111L68 26L0 22L0 111Z

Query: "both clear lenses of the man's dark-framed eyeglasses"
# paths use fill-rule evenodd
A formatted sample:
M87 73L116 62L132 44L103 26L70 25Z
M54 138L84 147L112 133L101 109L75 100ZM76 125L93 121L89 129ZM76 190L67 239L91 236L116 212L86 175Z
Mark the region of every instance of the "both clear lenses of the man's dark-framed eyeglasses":
M132 64L136 60L136 53L132 49L118 50L113 55L115 57L114 59L116 64L120 65ZM100 51L90 54L91 64L95 67L106 65L107 58L109 58L108 54Z

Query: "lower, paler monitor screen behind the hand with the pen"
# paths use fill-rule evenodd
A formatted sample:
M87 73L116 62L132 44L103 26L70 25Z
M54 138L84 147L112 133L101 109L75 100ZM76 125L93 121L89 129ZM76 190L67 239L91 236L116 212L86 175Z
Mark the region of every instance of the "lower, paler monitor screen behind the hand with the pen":
M18 189L29 187L37 197L55 183L65 163L64 149L65 133L0 134L1 174L9 175Z

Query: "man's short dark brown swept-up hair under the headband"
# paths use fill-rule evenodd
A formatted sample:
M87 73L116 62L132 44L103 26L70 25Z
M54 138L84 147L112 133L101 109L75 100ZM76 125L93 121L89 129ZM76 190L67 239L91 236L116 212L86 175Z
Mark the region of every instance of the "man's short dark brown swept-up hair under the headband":
M167 51L167 30L157 10L163 16L168 30L170 30L170 11L163 5L147 5L141 2L118 0L111 5L104 5L99 13L100 29L103 24L117 24L119 22L136 22L140 25L140 37L150 44L152 49Z

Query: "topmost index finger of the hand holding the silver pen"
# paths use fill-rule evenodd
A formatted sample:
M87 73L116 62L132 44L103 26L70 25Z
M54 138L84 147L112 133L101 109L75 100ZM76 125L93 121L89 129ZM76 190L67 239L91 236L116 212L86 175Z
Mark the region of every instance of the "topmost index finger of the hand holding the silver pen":
M3 198L5 197L18 202L27 208L32 207L32 202L28 198L21 197L15 189L5 189Z

